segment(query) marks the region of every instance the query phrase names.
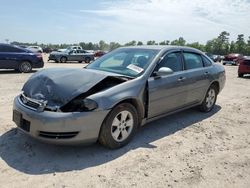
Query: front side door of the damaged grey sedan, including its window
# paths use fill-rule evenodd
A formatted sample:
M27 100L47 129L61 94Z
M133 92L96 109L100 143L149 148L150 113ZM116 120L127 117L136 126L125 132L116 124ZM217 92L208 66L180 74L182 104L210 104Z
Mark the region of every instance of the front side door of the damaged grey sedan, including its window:
M155 71L168 67L173 74L148 79L149 118L178 110L185 105L188 87L180 51L167 53L157 65Z

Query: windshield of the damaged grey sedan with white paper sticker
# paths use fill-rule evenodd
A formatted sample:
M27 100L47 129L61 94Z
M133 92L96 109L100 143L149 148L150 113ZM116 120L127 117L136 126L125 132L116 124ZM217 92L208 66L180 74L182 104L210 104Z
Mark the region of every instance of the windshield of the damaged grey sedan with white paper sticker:
M96 69L126 76L140 76L159 50L120 48L97 59L87 69Z

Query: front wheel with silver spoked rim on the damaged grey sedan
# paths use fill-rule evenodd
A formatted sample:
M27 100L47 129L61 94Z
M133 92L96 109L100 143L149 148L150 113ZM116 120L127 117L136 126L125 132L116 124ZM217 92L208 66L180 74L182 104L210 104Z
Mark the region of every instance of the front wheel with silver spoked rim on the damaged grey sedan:
M123 120L124 116L122 114L125 113L127 113L127 116L125 115L126 118ZM117 126L115 125L115 121ZM131 122L133 125L129 126L128 124L131 124ZM113 110L105 118L98 140L103 146L110 149L121 148L128 144L133 138L138 129L138 125L139 121L136 108L129 103L119 104L113 108Z

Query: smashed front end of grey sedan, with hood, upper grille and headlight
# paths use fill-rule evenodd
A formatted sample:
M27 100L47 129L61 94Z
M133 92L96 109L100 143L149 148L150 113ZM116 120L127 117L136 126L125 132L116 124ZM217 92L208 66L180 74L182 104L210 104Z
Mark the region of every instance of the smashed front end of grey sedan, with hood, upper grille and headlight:
M31 77L24 85L23 93L19 97L21 104L39 112L93 111L98 108L98 104L89 99L89 96L130 79L120 75L98 74L86 69L72 72L68 70L66 76L64 74L61 79L63 74L59 72L64 72L64 69L57 70L54 74L44 71L42 74Z

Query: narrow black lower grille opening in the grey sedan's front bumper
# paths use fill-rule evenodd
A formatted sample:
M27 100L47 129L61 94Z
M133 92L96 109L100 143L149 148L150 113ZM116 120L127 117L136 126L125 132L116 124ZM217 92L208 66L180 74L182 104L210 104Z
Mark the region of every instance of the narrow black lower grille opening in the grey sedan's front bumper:
M75 137L79 132L45 132L40 131L39 136L50 139L69 139Z

